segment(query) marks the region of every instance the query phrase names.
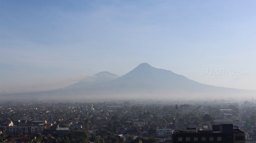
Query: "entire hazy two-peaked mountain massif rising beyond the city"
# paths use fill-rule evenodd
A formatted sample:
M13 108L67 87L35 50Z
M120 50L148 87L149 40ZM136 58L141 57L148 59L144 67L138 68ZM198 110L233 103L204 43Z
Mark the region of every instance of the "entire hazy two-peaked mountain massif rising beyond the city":
M127 74L118 77L113 73L101 72L87 77L71 86L51 91L2 95L2 97L26 97L44 100L70 99L209 99L209 98L243 98L255 91L223 88L202 84L178 75L169 70L158 69L142 63Z

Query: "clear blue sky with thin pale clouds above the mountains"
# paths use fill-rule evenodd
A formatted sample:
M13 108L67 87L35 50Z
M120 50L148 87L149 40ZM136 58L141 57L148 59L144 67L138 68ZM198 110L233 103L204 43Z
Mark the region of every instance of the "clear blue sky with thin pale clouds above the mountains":
M60 88L140 63L254 89L256 1L0 1L0 93ZM202 70L246 75L202 74Z

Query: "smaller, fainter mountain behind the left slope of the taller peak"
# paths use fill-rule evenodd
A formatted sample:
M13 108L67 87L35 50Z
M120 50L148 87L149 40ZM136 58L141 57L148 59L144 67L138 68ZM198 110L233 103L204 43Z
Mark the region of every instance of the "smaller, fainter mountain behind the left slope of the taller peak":
M94 86L97 84L102 84L104 82L109 82L109 81L115 80L118 77L119 77L118 75L115 75L108 71L102 71L93 76L86 77L85 79L81 80L80 82L76 82L76 83L74 83L70 86L67 86L65 88L62 88L62 89L83 88L83 87L87 87L87 86Z

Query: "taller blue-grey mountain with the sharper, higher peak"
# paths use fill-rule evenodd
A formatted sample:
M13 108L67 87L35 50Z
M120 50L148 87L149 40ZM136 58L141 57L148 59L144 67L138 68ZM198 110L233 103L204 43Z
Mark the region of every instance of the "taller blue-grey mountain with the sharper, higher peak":
M183 75L178 75L170 70L158 69L147 63L142 63L129 73L105 84L94 86L98 89L98 96L107 93L111 95L128 95L129 97L202 97L215 95L227 95L241 91L240 89L222 88L201 84L190 80Z

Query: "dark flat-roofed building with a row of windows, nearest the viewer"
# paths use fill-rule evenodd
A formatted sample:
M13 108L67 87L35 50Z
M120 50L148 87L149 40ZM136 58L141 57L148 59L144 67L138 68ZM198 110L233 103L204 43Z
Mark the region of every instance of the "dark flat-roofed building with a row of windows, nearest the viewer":
M173 130L172 143L245 143L245 132L233 124L212 125L212 130Z

